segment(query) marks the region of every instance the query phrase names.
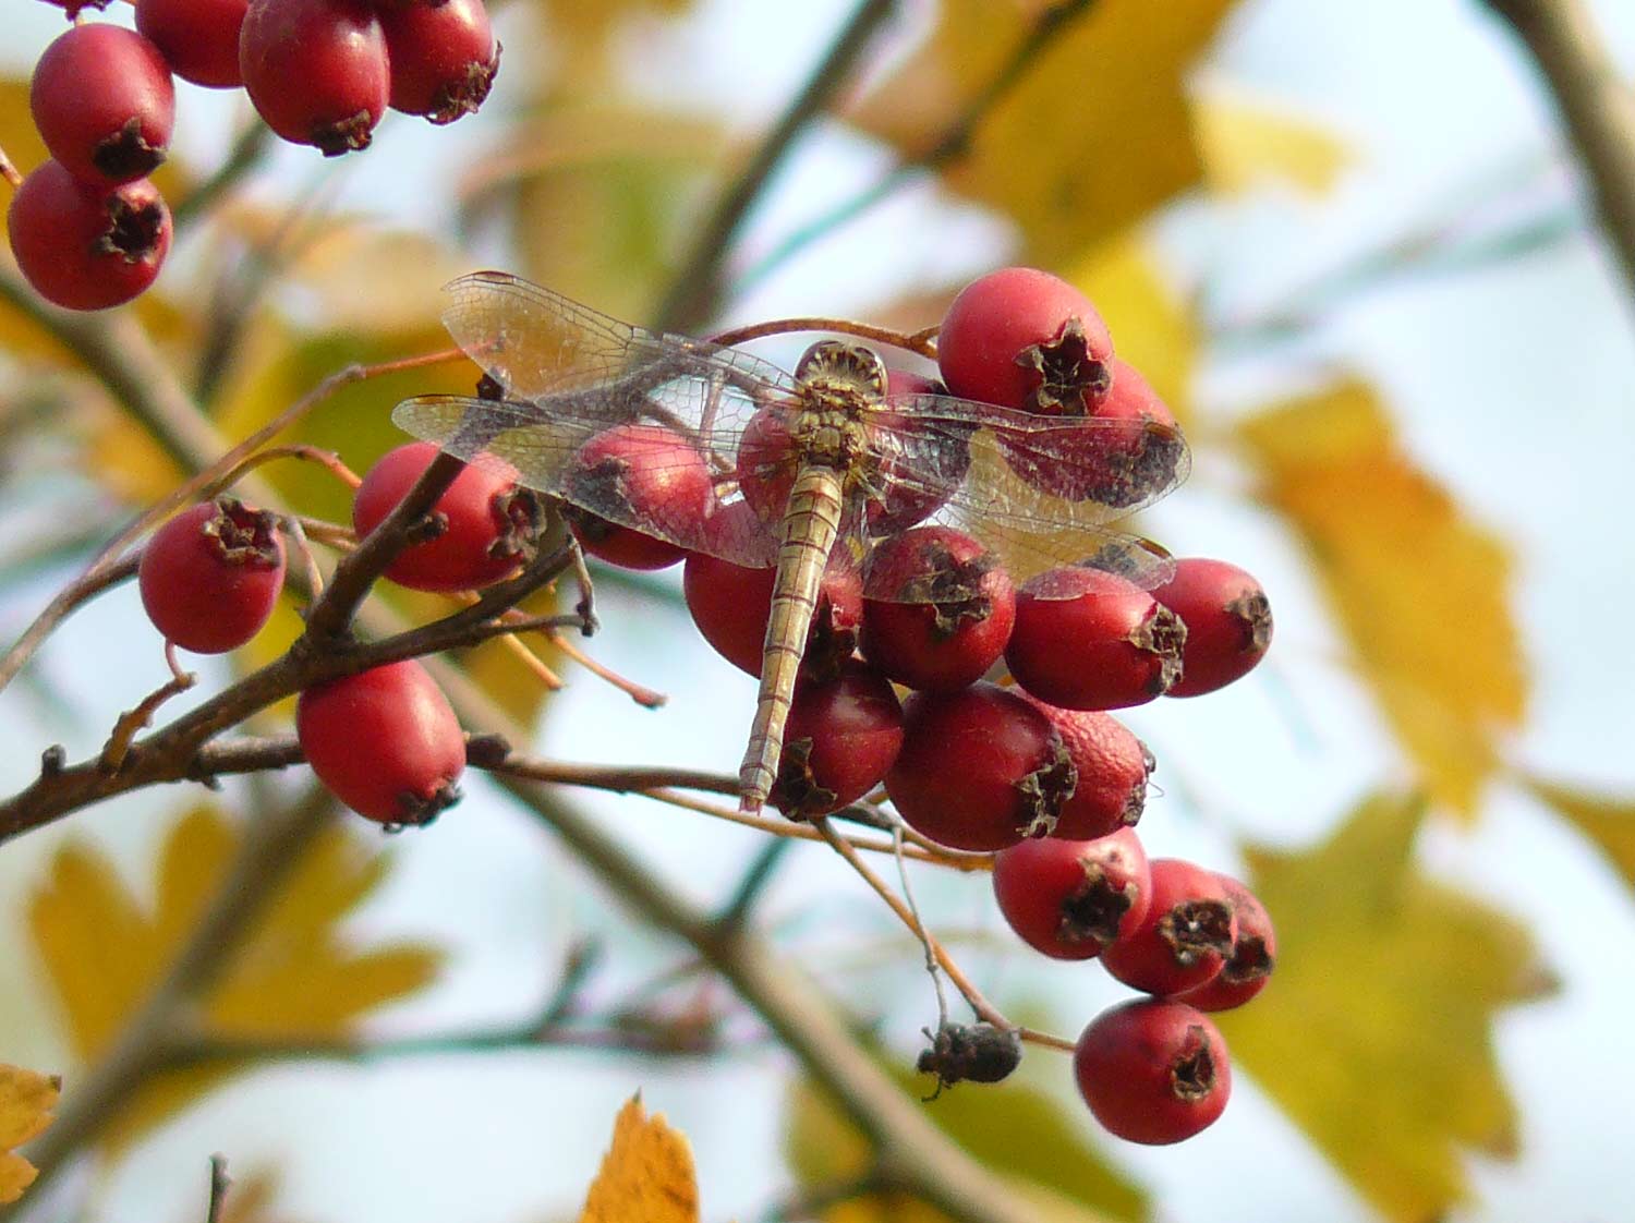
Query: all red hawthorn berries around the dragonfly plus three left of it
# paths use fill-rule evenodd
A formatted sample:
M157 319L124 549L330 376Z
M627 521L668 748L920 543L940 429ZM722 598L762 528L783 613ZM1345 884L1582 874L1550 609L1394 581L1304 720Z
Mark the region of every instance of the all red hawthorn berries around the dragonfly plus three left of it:
M1174 427L1141 374L1112 355L1091 302L1028 268L966 286L943 319L938 370L947 389L968 399L1162 427L1099 433L1102 450L1086 453L1086 469L1105 469L1109 438L1162 445ZM942 389L909 374L893 383ZM616 477L633 520L643 505L674 515L672 502L692 487L692 464L644 464L649 450L675 440L646 438L644 448L643 438L626 437L631 428L664 433L615 427L585 443L577 469ZM409 443L368 471L353 500L360 538L437 453ZM724 512L762 512L754 489L777 482L760 479L764 459L746 437L737 469L746 497ZM1123 451L1113 468L1128 473L1146 461L1174 456ZM1035 476L1056 489L1063 479L1086 479L1082 471ZM898 525L932 508L885 504ZM507 577L536 543L540 505L515 473L468 466L435 517L441 533L402 551L387 579L453 592ZM574 515L574 528L589 553L615 564L685 562L698 629L723 657L759 675L772 569L687 553L584 513ZM273 515L222 497L162 526L144 549L139 580L168 641L219 652L262 628L283 572ZM1091 1110L1123 1138L1179 1141L1212 1123L1230 1094L1226 1048L1205 1012L1259 992L1275 940L1265 909L1241 883L1184 860L1148 860L1133 824L1154 762L1107 710L1202 695L1239 679L1267 649L1270 610L1254 577L1207 558L1176 561L1174 576L1154 590L1097 567L1041 580L1050 585L1035 579L1014 589L978 540L938 525L888 535L871 559L868 589L883 582L912 598L870 598L855 572L835 567L806 643L772 801L791 818L811 818L883 782L903 819L930 840L994 852L999 911L1022 940L1061 960L1100 958L1149 996L1084 1028L1074 1064ZM1001 659L1014 685L986 679ZM906 700L894 685L911 690ZM317 777L370 819L425 824L458 798L461 729L419 662L307 688L296 729ZM932 1064L947 1081L981 1077L947 1058Z

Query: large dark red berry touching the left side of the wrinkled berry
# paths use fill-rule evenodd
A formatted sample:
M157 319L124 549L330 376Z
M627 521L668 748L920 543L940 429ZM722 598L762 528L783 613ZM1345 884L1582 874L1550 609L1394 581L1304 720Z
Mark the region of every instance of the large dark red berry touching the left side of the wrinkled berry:
M973 683L916 692L886 793L940 845L996 850L1045 835L1073 793L1073 760L1050 721L1012 692Z

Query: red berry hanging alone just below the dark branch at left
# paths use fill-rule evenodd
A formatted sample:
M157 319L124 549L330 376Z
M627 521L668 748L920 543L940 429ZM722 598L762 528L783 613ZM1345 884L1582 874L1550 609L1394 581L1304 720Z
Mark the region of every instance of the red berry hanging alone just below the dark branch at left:
M317 780L379 824L430 824L459 800L459 719L414 659L304 690L296 739Z

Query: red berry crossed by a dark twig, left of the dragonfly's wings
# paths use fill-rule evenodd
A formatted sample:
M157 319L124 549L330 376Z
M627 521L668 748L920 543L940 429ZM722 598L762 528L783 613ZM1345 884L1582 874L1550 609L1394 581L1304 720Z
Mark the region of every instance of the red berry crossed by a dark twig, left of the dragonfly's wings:
M410 441L386 451L363 477L352 500L358 538L379 526L438 448ZM517 571L533 551L541 523L538 499L517 486L508 469L468 466L437 500L441 535L405 548L386 577L414 590L476 590Z

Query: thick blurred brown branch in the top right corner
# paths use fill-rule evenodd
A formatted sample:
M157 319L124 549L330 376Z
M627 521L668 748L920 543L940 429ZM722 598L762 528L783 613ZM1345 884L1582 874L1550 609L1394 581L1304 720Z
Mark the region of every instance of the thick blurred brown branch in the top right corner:
M1635 291L1635 90L1583 0L1488 0L1527 44L1578 147L1596 211Z

